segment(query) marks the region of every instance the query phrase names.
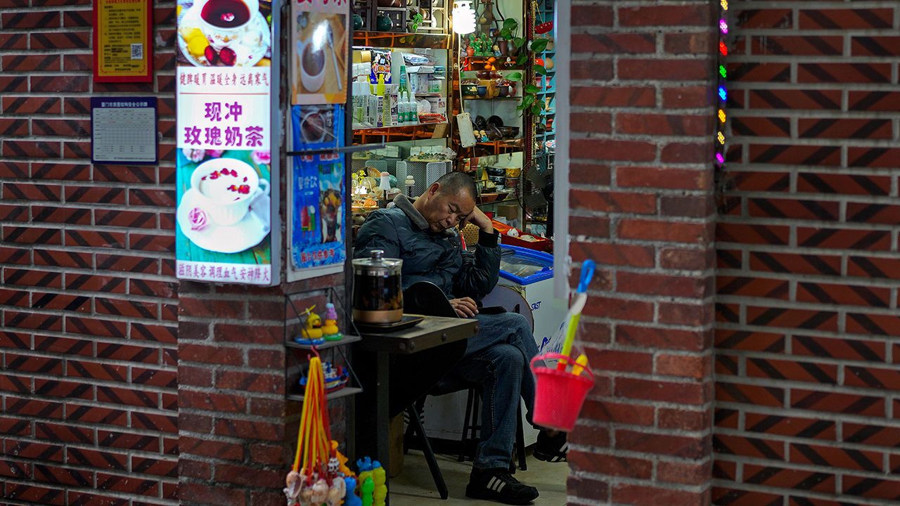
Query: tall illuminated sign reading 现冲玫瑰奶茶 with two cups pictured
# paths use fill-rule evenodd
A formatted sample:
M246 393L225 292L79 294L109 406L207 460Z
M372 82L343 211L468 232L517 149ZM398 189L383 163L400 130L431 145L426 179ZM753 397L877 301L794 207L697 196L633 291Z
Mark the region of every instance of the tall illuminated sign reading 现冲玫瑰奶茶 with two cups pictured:
M272 3L261 0L178 2L180 279L278 282L271 233L271 13Z

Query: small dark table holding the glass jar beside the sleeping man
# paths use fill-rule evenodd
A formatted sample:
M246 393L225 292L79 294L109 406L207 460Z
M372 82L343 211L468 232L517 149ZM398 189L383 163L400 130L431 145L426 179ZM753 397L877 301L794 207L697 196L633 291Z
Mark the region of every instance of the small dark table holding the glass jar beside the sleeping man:
M391 467L391 438L389 426L391 424L390 398L391 398L391 355L410 356L412 354L445 346L446 344L469 339L478 333L478 321L464 318L444 318L439 316L425 316L425 320L407 330L398 330L385 333L361 332L363 340L356 344L357 348L374 352L374 392L364 393L358 399L361 406L356 409L360 419L356 421L356 448L373 447L374 455L378 457L389 474ZM361 360L371 365L370 353L356 353L356 363ZM374 394L373 394L374 393ZM360 454L359 456L362 456ZM429 463L430 465L430 463ZM445 487L446 488L446 487ZM389 489L390 490L390 489ZM446 493L445 491L442 491Z

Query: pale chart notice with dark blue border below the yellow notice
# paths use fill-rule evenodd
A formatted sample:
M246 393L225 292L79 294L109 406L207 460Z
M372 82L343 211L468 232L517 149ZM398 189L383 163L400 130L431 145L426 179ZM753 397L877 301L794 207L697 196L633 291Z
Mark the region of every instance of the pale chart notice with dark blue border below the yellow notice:
M157 97L92 97L91 161L157 163Z

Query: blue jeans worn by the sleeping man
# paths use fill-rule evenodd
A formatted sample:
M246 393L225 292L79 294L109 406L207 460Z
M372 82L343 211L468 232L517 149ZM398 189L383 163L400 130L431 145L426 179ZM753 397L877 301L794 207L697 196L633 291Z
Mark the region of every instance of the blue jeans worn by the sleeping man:
M463 359L440 382L446 392L482 385L482 441L474 466L509 467L516 442L519 396L525 400L527 420L535 402L531 359L537 345L524 316L515 312L479 314L478 335L469 339Z

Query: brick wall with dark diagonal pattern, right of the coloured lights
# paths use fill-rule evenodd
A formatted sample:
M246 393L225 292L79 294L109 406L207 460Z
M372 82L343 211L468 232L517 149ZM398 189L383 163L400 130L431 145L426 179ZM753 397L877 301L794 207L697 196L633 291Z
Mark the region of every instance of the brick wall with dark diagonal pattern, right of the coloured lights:
M731 6L713 501L896 504L900 13Z

